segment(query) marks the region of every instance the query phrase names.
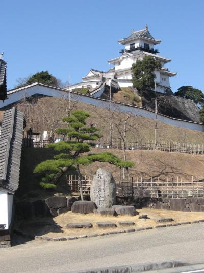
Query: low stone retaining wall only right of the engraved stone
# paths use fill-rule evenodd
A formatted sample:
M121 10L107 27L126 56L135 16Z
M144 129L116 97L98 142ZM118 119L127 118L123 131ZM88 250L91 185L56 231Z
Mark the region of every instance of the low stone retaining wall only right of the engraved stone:
M204 212L204 198L133 198L117 197L117 203L171 211Z

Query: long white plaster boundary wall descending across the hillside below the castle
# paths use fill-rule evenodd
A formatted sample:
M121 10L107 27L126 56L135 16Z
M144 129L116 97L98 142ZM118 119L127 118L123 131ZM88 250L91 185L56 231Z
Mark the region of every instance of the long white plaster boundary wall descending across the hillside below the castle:
M125 86L127 86L127 83ZM36 85L36 86L31 86L27 89L22 89L18 92L8 93L8 100L5 100L4 103L3 103L3 101L1 101L0 108L7 106L8 104L12 104L20 99L23 99L24 96L30 97L34 94L42 94L42 95L48 95L51 97L58 97L58 98L63 98L63 97L68 98L69 97L69 92L67 92L67 91L62 91L59 89ZM100 106L100 107L105 107L105 108L109 107L109 101L106 101L106 100L100 99L100 98L91 97L88 95L76 94L76 93L71 92L71 99L74 101L92 104L94 106ZM114 103L114 105L117 107L117 111L121 111L121 112L125 112L125 113L131 112L134 115L140 115L142 117L155 119L155 112L154 111L150 111L150 110L147 110L142 107L130 106L127 104L122 104L122 103ZM204 125L200 124L200 123L170 118L170 117L167 117L167 116L164 116L161 114L158 114L158 120L165 122L167 124L177 126L177 127L188 128L191 130L196 130L196 131L201 131L201 132L204 131Z

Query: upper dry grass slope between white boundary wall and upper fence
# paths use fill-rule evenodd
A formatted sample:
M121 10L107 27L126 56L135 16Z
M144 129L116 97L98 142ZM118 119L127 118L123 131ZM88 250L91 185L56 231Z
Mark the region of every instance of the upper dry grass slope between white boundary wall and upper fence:
M61 125L61 117L67 115L68 101L54 97L37 97L26 103L19 103L19 110L25 112L27 128L33 127L34 132L48 131L52 135ZM11 106L10 106L11 107ZM83 102L71 102L71 109L85 110L91 114L88 122L96 122L100 128L104 139L109 137L110 112L109 109L96 107ZM118 138L118 130L124 126L125 113L113 114L113 137ZM155 120L141 116L133 116L127 124L127 138L130 141L142 139L145 141L154 141L155 137ZM185 128L178 128L163 122L158 122L158 139L161 141L183 142L190 144L202 144L204 142L204 133Z

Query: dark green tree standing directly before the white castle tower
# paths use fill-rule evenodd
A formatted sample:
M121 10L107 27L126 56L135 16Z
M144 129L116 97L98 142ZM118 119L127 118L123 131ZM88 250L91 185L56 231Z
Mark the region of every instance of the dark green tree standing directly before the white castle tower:
M132 82L133 87L139 92L146 88L154 88L156 75L155 69L161 68L161 62L151 56L145 56L143 60L137 60L132 65Z

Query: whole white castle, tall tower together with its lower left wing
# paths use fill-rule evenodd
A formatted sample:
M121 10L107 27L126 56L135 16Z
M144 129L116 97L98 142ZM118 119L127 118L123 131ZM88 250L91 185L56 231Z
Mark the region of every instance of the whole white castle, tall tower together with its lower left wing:
M164 67L171 59L158 55L159 51L155 48L155 45L160 44L161 40L153 38L147 26L142 30L132 30L131 35L120 39L119 43L124 45L124 49L120 51L121 55L109 60L109 63L114 65L114 68L107 72L91 69L82 78L83 82L72 85L71 90L80 87L96 88L101 80L107 78L117 81L120 87L132 86L132 64L137 60L142 60L144 56L152 56L159 60L162 65L161 69L155 70L157 91L172 94L169 77L175 76L176 73Z

